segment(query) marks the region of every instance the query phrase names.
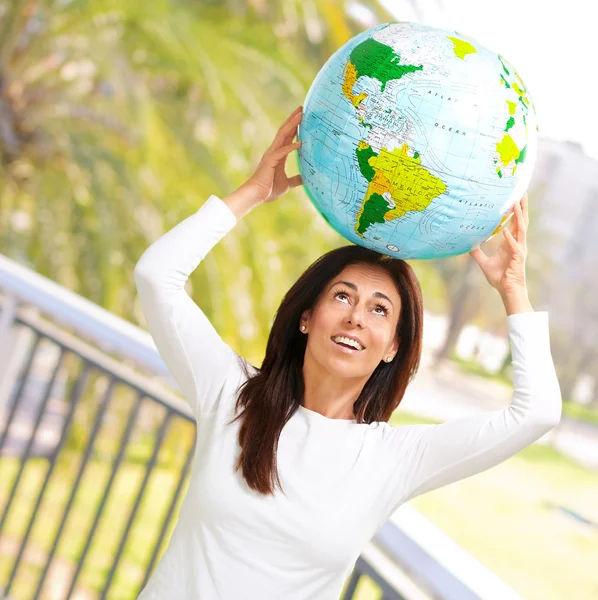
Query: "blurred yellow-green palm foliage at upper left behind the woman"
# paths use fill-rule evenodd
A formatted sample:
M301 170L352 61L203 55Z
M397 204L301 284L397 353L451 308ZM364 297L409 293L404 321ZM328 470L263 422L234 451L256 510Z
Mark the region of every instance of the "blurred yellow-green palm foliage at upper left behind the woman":
M323 62L363 29L350 4L0 0L3 251L139 318L143 249L251 173ZM289 281L342 241L294 196L300 209L250 215L190 282L254 359Z

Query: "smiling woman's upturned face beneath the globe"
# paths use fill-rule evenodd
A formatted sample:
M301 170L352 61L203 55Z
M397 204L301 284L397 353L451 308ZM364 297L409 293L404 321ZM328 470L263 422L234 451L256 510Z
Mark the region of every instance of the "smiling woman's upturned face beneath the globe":
M397 352L400 310L394 281L382 267L349 265L328 282L312 313L302 315L306 360L339 377L369 377ZM337 336L343 335L359 340L361 349L342 345Z

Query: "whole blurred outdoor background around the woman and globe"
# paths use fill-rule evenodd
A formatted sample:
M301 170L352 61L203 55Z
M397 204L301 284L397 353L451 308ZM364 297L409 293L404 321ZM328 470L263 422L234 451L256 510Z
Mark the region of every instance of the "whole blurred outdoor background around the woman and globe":
M429 546L442 585L397 541L386 555L402 588L384 587L392 578L372 550L345 597L448 598L467 582L477 595L451 597L498 597L504 585L513 596L501 598L598 598L598 126L581 0L0 0L5 597L136 597L176 520L195 429L143 331L133 268L210 194L251 175L337 48L388 21L471 35L531 92L540 146L528 287L550 314L564 411L516 457L415 499L408 522L425 526L407 534L400 516L389 523L396 540ZM259 365L284 293L345 244L297 188L239 222L187 291ZM498 294L467 254L409 262L425 349L391 422L506 405Z

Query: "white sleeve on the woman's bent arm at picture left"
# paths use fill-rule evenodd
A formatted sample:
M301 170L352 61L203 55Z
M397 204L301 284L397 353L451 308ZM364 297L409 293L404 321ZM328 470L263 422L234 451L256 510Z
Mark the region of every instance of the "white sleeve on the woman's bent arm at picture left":
M149 331L196 416L216 410L224 382L240 365L184 285L236 222L230 208L212 195L151 244L134 269Z

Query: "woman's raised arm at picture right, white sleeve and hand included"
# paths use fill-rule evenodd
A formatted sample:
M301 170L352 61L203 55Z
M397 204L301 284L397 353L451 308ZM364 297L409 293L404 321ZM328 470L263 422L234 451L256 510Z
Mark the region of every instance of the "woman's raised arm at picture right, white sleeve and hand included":
M529 446L561 419L562 397L550 351L548 312L534 312L525 282L527 194L513 207L515 219L503 228L498 252L470 252L507 312L513 395L509 406L440 425L393 428L402 457L393 474L395 507L424 492L493 467ZM512 228L512 229L511 229Z

